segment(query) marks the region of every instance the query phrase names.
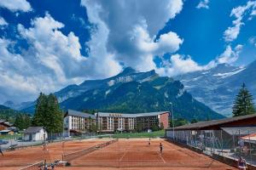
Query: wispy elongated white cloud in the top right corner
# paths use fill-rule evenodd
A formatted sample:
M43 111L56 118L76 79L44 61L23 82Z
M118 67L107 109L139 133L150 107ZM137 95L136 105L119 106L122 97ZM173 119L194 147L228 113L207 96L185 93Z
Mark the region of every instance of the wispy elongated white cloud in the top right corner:
M248 1L244 6L238 6L233 8L230 14L230 17L235 17L236 20L233 20L233 26L228 27L226 31L224 31L224 40L226 42L232 42L238 37L241 26L244 25L242 20L244 20L245 14L248 10L251 11L251 17L254 15L254 8L256 8L256 1ZM252 18L249 18L251 20Z

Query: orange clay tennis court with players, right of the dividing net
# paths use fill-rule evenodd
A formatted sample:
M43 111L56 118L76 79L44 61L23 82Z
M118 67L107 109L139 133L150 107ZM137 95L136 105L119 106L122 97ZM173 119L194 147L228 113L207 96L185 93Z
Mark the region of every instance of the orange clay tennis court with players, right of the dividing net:
M160 142L164 146L162 154ZM67 169L236 169L163 139L151 139L150 145L148 139L119 139L101 150L90 152L70 162L72 167L66 167Z

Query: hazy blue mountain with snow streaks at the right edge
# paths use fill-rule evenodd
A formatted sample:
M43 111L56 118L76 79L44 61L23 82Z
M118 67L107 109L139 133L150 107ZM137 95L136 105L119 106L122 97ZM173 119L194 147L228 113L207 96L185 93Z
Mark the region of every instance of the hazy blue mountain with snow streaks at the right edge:
M246 67L221 64L207 71L195 71L174 78L180 80L195 99L213 111L231 116L234 99L243 82L256 98L255 77L256 61Z

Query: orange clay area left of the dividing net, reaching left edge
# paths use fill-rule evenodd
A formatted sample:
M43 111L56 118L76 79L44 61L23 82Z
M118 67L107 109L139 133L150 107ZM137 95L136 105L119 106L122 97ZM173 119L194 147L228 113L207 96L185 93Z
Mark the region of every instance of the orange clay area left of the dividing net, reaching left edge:
M84 150L96 144L105 143L109 139L86 139L66 141L62 147L62 143L47 144L47 150L43 150L43 146L33 146L25 149L4 152L4 156L0 156L0 169L19 169L26 167L38 161L47 160L53 162L61 160L62 154L71 153L78 150Z

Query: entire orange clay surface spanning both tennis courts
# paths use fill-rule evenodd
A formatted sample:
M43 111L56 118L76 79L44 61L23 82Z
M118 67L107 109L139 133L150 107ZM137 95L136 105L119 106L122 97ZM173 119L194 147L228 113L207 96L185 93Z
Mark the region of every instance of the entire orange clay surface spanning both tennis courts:
M66 142L65 154L83 150L90 146L101 144L103 139ZM163 154L160 154L159 144L164 145ZM49 144L48 160L61 159L62 144ZM42 146L5 152L0 156L0 169L13 170L25 165L44 160ZM161 139L152 139L150 146L148 139L119 139L102 149L80 156L71 161L71 167L56 167L63 170L233 170L224 163L214 161L208 156L197 154L194 151L181 148Z

